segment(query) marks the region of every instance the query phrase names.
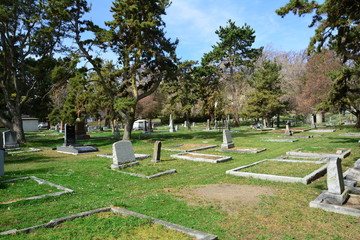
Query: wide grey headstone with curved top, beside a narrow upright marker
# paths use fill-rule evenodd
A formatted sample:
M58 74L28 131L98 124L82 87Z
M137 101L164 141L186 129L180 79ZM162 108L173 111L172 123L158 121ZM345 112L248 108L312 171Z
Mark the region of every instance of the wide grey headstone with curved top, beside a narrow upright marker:
M135 159L130 141L122 140L113 144L113 164L111 169L123 169L139 164Z

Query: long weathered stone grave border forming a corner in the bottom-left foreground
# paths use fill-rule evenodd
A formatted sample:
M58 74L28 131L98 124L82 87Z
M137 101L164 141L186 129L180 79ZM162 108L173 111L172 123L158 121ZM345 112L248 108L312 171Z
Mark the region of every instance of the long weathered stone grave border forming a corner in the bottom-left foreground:
M47 223L44 224L40 224L40 225L36 225L36 226L32 226L32 227L28 227L28 228L23 228L23 229L12 229L12 230L8 230L8 231L4 231L4 232L0 232L0 235L10 235L10 234L17 234L17 233L21 233L21 232L25 232L25 233L29 233L35 229L38 229L40 227L45 227L45 228L53 228L67 220L74 220L76 218L82 218L82 217L87 217L87 216L91 216L93 214L98 214L98 213L102 213L102 212L113 212L116 214L121 214L123 216L133 216L133 217L138 217L138 218L145 218L148 219L149 221L151 221L154 224L160 224L166 228L169 228L171 230L175 230L175 231L179 231L179 232L183 232L187 235L193 236L198 240L216 240L218 239L216 235L210 234L210 233L206 233L206 232L201 232L198 230L194 230L191 228L187 228L175 223L171 223L171 222L166 222L157 218L153 218L153 217L149 217L147 215L141 214L141 213L137 213L137 212L133 212L130 210L127 210L125 208L120 208L120 207L104 207L104 208L97 208L91 211L86 211L86 212L81 212L78 214L74 214L74 215L69 215L66 217L62 217L62 218L56 218L56 219L52 219Z

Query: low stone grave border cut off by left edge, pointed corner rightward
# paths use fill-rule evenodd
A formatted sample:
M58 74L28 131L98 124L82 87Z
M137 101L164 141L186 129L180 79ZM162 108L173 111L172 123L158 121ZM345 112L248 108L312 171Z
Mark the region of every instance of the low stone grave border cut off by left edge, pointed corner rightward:
M41 179L41 178L37 178L35 176L8 179L8 180L1 181L0 183L9 183L9 182L15 182L15 181L19 181L19 180L28 180L28 179L33 179L39 184L48 184L48 185L50 185L52 187L56 187L57 189L63 190L63 191L55 192L55 193L49 193L49 194L43 194L43 195L38 195L38 196L33 196L33 197L22 198L22 199L19 199L18 201L14 201L14 202L19 202L19 201L22 201L22 200L35 200L35 199L40 199L40 198L44 198L44 197L60 196L62 194L73 193L74 192L74 190L72 190L70 188L60 186L58 184L46 181L46 180ZM10 202L10 203L14 203L14 202ZM0 203L0 204L10 204L10 203Z

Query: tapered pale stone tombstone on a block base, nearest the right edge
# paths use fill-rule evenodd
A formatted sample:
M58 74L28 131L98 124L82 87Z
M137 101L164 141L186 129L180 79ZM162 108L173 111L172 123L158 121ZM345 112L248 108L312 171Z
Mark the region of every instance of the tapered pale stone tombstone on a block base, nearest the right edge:
M328 190L324 194L324 200L330 204L344 204L348 198L348 190L344 186L344 178L340 158L330 158L327 167Z

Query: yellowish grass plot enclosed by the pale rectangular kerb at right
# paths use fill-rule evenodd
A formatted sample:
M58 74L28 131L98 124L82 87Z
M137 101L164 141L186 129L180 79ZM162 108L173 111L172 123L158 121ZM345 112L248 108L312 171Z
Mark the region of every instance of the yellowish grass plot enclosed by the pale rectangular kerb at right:
M239 171L288 177L305 177L321 166L321 164L314 163L265 161Z

